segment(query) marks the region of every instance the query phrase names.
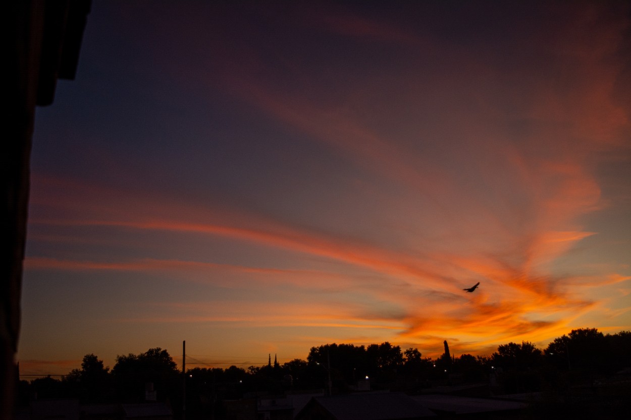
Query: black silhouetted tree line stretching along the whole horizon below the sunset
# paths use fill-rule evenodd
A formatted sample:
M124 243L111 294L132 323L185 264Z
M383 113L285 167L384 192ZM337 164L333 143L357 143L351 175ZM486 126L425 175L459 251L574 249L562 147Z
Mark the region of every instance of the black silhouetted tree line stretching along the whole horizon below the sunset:
M182 403L186 381L187 410L202 415L214 411L221 416L221 400L244 395L287 390L317 390L330 387L333 394L357 389L370 382L371 389L409 393L435 385L495 383L502 392L528 392L543 388L562 389L576 383L589 383L603 375L627 368L631 354L631 332L603 334L596 329L577 329L554 339L545 349L533 343L509 342L498 346L490 356L445 353L437 359L423 357L416 348L402 350L389 342L355 346L324 344L312 347L306 360L293 359L264 366L192 368L186 375L166 350L117 356L110 370L94 354L86 354L81 369L61 380L38 378L21 381L21 403L35 394L39 398L74 397L84 403L141 402L147 384L155 399L168 401L177 410ZM491 380L493 379L493 380ZM491 380L491 381L490 381Z

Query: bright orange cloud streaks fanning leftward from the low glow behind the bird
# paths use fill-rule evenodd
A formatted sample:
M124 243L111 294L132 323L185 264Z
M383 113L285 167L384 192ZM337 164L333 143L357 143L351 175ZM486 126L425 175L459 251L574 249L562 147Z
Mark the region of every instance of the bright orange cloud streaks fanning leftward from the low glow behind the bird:
M126 201L124 198L122 201ZM350 290L355 288L369 293L370 301L386 300L396 302L400 306L396 316L381 318L379 310L370 306L355 306L345 313L332 311L331 308L348 306L350 303L341 298L340 301L322 303L310 310L310 305L304 302L295 306L275 306L276 311L269 308L253 310L252 303L244 313L239 313L237 305L217 305L221 315L181 315L156 317L152 315L145 322L239 322L240 324L267 323L278 326L319 326L375 328L399 330L402 339L418 339L423 335L466 335L472 337L488 337L492 327L496 339L512 337L516 334L543 335L551 329L558 329L559 321L541 322L530 319L529 313L553 314L560 311L581 310L590 305L587 301L575 300L567 296L562 288L550 288L545 277L526 276L520 267L510 267L501 260L492 258L469 257L465 259L458 255L436 254L426 259L415 259L409 255L394 254L389 250L370 248L357 243L340 242L339 238L322 236L305 230L294 230L288 226L259 226L258 229L235 228L234 226L208 225L204 223L189 223L183 221L37 221L34 223L50 223L59 226L101 226L105 228L125 228L133 230L175 231L182 235L211 235L225 236L244 242L261 243L267 247L278 247L292 252L317 255L338 260L346 264L367 268L386 276L387 281L374 279L366 282L362 277L352 272L347 275L334 272L317 272L309 270L282 269L278 267L245 267L230 264L216 264L212 262L143 259L127 262L90 262L60 260L47 257L28 257L27 269L56 269L56 270L125 270L147 272L172 272L175 278L186 271L237 271L259 277L269 284L293 284L304 289L336 288ZM549 242L567 242L580 240L584 235L577 233L560 233L551 236ZM467 300L461 293L461 281L457 277L442 274L445 266L455 267L455 273L466 274L468 277L487 279L485 287L497 288L495 299L499 303L489 303L489 295L480 292L472 300ZM261 277L264 276L264 277ZM394 286L396 282L400 287ZM209 280L210 283L221 284L221 281ZM454 284L455 283L455 284ZM495 284L495 286L493 286ZM466 285L468 286L468 284ZM432 289L443 293L430 292ZM508 296L508 297L507 297ZM512 296L512 297L510 297ZM184 305L187 306L187 305ZM257 306L254 304L254 306ZM353 307L353 305L350 305ZM422 312L432 313L432 317L419 317L418 307ZM280 310L279 308L283 308ZM249 315L254 313L273 313L274 315ZM329 317L322 319L321 313L329 313ZM300 314L297 316L296 314ZM375 318L376 317L376 318ZM291 320L288 320L290 318ZM372 327L365 324L370 319L380 319L382 322ZM353 320L358 324L349 324ZM363 321L362 321L363 320ZM133 318L132 322L143 322L143 318ZM386 324L384 324L384 322ZM271 324L270 324L271 323ZM464 348L464 347L463 347Z

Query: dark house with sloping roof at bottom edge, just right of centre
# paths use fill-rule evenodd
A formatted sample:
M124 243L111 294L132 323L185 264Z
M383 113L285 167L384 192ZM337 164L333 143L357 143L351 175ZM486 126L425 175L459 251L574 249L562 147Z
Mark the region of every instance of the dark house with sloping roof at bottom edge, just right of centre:
M415 420L435 416L405 394L365 393L313 397L296 420Z

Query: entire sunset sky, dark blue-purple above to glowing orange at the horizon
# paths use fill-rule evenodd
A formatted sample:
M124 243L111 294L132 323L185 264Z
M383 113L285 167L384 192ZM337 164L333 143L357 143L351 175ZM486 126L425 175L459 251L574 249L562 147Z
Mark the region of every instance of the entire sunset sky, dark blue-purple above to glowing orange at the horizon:
M629 330L630 118L627 1L94 1L37 110L20 373Z

